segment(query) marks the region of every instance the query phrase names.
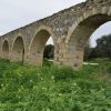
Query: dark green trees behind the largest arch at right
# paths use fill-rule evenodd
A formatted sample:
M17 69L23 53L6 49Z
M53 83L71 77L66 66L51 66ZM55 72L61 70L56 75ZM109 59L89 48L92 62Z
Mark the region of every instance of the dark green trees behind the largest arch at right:
M109 58L111 59L111 34L102 36L97 39L97 47L90 48L90 43L84 49L84 60L95 58Z

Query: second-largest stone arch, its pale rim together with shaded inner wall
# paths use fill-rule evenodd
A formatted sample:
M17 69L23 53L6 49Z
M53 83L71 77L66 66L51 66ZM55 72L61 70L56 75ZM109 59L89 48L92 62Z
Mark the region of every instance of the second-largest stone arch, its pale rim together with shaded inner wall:
M56 44L56 36L51 28L42 26L37 30L29 47L29 61L31 64L42 65L44 46L50 37L52 37L53 44Z

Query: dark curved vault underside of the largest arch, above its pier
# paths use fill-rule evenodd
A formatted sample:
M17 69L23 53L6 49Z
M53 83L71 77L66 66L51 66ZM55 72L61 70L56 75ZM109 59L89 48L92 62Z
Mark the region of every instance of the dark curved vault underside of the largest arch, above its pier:
M87 41L89 37L103 23L111 21L111 17L108 14L94 14L78 24L78 27L72 32L69 42L75 38L77 41ZM83 42L83 43L84 43Z

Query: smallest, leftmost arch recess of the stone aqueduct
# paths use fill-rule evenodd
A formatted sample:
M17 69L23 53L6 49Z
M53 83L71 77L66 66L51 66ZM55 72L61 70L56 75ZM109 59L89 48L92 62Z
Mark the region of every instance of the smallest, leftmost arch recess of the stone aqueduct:
M9 59L9 43L7 40L2 44L2 58Z

